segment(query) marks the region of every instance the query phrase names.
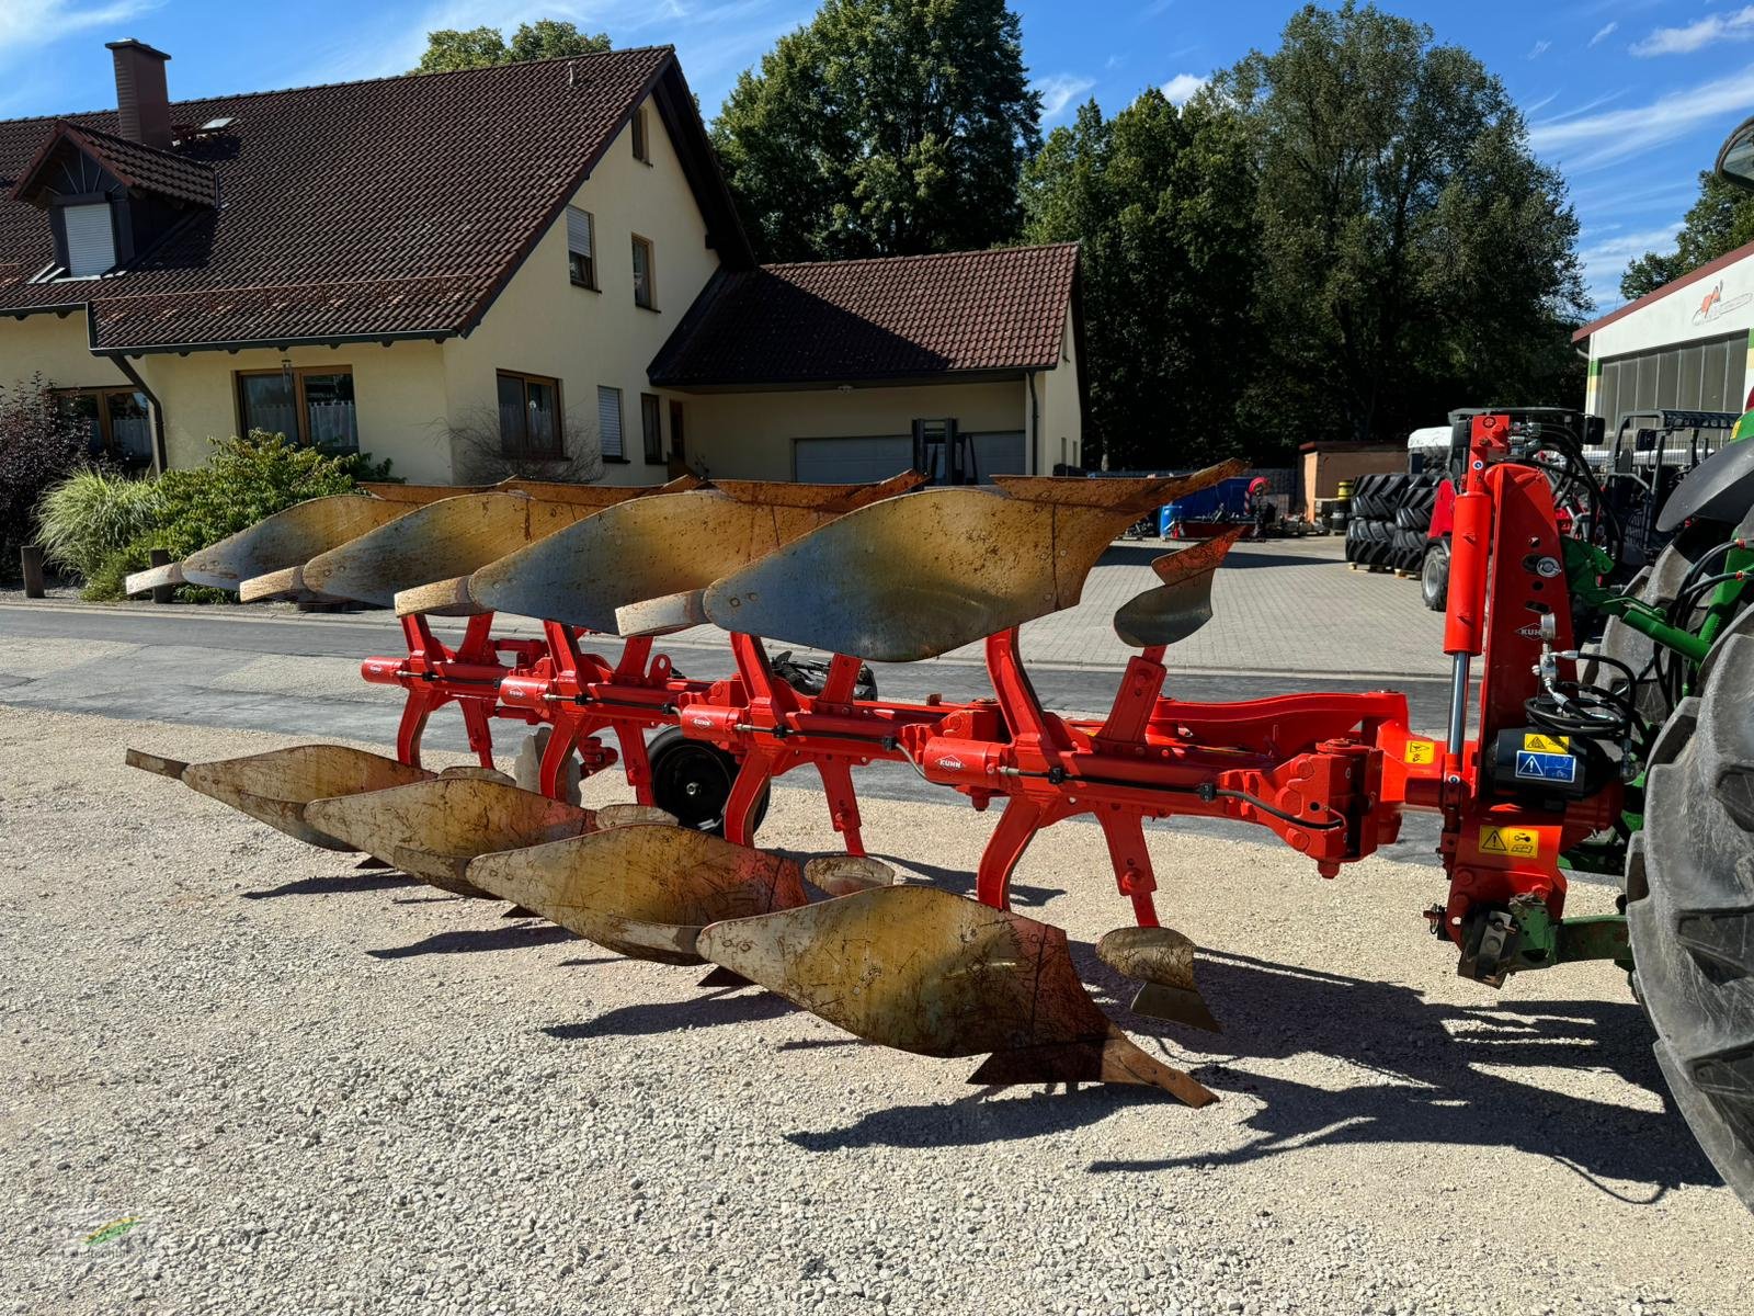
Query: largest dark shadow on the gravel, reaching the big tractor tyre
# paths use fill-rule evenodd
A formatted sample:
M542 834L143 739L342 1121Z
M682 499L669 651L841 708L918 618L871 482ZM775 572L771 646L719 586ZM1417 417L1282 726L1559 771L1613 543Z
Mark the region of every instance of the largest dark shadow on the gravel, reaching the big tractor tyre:
M1073 958L1091 995L1140 1044L1152 1041L1170 1063L1231 1100L1258 1098L1240 1148L1186 1156L1094 1162L1093 1174L1138 1174L1193 1165L1240 1165L1310 1146L1426 1142L1445 1149L1512 1148L1570 1167L1603 1193L1654 1204L1680 1184L1715 1184L1668 1098L1651 1053L1643 1011L1628 998L1515 1000L1484 997L1477 1005L1428 1002L1394 983L1316 972L1244 955L1200 958L1200 984L1228 1032L1221 1037L1145 1019L1126 1002L1131 984L1107 970L1087 944ZM1247 1062L1317 1053L1366 1070L1338 1090L1263 1076ZM1507 1070L1535 1070L1528 1079ZM1661 1095L1661 1111L1631 1109L1542 1086L1544 1069L1607 1070ZM1098 1123L1159 1097L1140 1088L1082 1088L1065 1095L986 1102L995 1090L959 1102L868 1111L833 1130L786 1134L807 1151L859 1146L937 1148L1047 1137ZM1198 1119L1200 1116L1191 1116ZM1458 1191L1479 1188L1466 1162L1449 1156ZM1645 1184L1624 1195L1601 1179Z

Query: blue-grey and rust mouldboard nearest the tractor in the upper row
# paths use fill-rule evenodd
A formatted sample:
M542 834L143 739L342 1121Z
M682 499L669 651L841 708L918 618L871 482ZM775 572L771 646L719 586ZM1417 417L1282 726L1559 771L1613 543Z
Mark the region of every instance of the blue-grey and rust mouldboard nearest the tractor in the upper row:
M830 653L933 658L1077 604L1133 519L989 488L924 490L849 512L719 579L707 616Z

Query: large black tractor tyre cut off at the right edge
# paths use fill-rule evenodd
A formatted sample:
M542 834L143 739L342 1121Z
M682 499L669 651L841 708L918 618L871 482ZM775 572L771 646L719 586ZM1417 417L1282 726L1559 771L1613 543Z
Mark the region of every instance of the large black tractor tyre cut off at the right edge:
M1635 991L1656 1058L1712 1165L1754 1209L1754 635L1651 749L1626 856Z

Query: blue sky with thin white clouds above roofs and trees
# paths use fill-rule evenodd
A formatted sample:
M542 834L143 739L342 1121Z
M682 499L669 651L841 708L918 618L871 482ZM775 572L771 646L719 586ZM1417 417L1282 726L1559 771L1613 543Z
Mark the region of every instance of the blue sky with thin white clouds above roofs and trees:
M1096 97L1189 95L1249 47L1272 47L1284 0L1012 0L1045 126ZM1584 225L1600 309L1629 256L1665 244L1717 144L1754 114L1754 4L1740 0L1386 0L1475 51L1522 105ZM430 28L567 18L617 46L672 42L710 118L738 70L809 19L810 0L0 0L0 116L114 104L105 40L174 56L172 97L375 77L409 68Z

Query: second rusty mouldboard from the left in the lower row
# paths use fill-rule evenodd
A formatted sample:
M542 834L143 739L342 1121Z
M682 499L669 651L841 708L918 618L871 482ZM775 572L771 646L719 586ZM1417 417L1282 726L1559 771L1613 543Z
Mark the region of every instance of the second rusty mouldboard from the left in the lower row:
M575 837L596 821L589 809L479 777L314 800L305 819L410 877L472 897L491 893L463 876L468 860Z

